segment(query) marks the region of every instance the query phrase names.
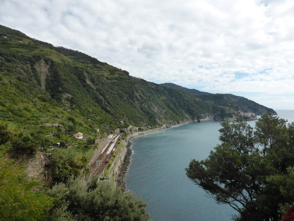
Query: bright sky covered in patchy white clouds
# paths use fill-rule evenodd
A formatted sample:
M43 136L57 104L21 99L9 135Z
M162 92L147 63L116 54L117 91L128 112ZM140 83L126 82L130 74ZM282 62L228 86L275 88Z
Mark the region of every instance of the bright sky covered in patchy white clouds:
M294 110L293 0L0 0L0 24L154 83Z

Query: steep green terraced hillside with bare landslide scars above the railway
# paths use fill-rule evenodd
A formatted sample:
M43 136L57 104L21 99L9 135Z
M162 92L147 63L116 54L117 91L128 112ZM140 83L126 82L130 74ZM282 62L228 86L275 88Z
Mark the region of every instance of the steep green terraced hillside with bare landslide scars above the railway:
M211 101L209 93L195 96L132 77L82 52L4 26L0 45L0 118L31 134L53 133L60 139L82 132L97 138L130 125L143 129L225 120L238 110L233 101ZM243 105L249 110L252 103ZM52 123L59 123L55 133L48 127Z

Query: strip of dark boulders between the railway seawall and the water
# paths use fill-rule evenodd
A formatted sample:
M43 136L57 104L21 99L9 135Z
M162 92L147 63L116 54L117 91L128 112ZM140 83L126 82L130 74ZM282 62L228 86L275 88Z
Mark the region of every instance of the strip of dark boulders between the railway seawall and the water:
M115 182L116 182L116 187L121 188L122 192L126 191L126 183L125 183L125 177L126 177L126 172L128 171L128 166L131 161L131 155L132 155L132 150L131 150L131 144L132 142L128 142L126 148L126 156L123 162L121 162L121 165L119 165L118 172L115 176Z

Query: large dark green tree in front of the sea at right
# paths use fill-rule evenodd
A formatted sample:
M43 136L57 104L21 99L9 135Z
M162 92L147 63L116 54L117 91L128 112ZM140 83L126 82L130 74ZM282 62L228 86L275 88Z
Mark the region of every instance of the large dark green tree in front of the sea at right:
M222 122L222 143L207 159L190 162L188 178L218 203L233 207L239 213L235 220L278 220L283 207L294 202L289 185L294 166L294 125L287 127L285 123L263 115L253 132L242 118Z

